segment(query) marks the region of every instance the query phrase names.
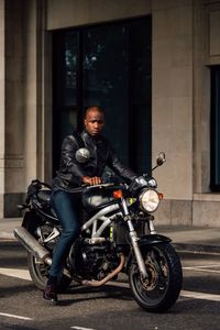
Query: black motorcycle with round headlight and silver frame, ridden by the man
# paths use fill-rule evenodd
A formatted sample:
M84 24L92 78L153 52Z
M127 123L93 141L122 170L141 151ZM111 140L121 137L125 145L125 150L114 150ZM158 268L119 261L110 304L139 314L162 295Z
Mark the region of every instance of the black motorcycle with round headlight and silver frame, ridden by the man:
M88 158L85 150L76 158ZM161 153L150 174L143 174L130 185L106 183L73 189L81 194L81 232L73 244L58 290L72 280L99 287L128 276L135 301L145 310L163 312L178 299L183 271L172 240L157 234L153 213L163 195L152 172L164 164ZM28 250L31 278L44 289L52 265L54 246L62 233L61 223L50 204L51 186L37 179L28 189L22 226L14 237Z

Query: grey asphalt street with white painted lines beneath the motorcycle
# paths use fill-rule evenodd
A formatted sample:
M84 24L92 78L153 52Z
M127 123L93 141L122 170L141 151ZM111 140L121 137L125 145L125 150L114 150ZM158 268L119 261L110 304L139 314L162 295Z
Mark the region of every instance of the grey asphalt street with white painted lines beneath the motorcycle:
M184 287L166 314L150 314L133 300L127 283L101 288L75 283L59 304L42 299L30 280L26 252L16 242L0 242L0 329L220 329L220 256L180 253Z

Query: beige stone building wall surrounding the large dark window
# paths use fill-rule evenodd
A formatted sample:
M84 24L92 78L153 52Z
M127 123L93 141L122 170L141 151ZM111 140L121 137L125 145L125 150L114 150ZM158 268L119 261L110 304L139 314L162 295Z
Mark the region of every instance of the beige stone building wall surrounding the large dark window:
M152 160L162 150L167 157L155 172L165 196L157 223L220 226L220 194L209 189L220 1L209 0L0 0L0 218L16 216L32 178L52 177L53 31L147 14Z

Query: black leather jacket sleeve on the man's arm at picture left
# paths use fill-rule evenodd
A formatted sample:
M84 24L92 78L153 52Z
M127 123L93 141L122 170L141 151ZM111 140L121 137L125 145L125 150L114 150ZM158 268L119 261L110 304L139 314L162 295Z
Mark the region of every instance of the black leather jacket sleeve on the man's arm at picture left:
M77 143L69 136L65 138L62 144L62 167L70 175L73 183L81 184L82 176L86 176L81 164L76 161Z

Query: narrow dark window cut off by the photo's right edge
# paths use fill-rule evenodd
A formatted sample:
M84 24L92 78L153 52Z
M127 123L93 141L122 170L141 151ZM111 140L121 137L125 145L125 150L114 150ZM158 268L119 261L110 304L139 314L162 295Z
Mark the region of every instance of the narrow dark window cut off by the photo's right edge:
M211 190L220 191L220 66L211 67Z

